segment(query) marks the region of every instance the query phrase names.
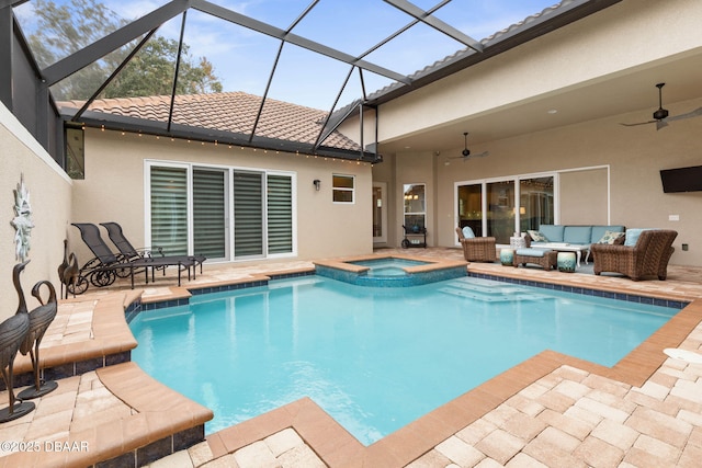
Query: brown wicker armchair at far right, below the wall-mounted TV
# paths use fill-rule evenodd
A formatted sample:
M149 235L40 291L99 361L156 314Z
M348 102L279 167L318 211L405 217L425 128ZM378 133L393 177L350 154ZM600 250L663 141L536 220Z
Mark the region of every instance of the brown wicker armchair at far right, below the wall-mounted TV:
M595 274L613 272L634 281L646 276L658 276L664 281L668 276L668 261L677 236L673 230L655 229L642 231L634 247L593 243L590 249L595 254Z

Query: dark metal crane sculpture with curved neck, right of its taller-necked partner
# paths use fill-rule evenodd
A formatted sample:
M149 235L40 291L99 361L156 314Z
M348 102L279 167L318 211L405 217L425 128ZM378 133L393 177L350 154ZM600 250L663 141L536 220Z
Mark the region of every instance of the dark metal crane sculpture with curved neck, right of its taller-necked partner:
M44 304L42 299L41 292L44 285L48 287L48 299L46 304ZM32 369L34 372L34 387L27 387L18 395L19 398L24 400L42 397L56 390L58 387L58 384L53 380L42 383L39 379L39 343L42 342L42 338L44 338L46 329L54 321L56 311L58 310L56 289L50 282L44 279L34 285L32 296L36 297L41 306L30 312L30 331L20 345L20 353L22 353L22 355L30 353Z

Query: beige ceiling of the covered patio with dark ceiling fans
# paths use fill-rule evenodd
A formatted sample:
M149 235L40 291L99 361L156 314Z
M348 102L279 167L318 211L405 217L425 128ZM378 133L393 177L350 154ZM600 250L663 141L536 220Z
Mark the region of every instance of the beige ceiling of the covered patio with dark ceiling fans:
M655 83L659 82L667 83L664 88L664 107L670 111L670 115L688 113L698 106L680 107L675 103L702 96L700 70L702 50L683 57L668 57L654 66L629 70L625 75L532 96L529 101L496 109L489 114L465 116L441 128L428 128L386 141L381 145L381 152L455 150L463 147L463 132L466 130L471 133L469 147L483 150L480 144L485 141L625 113L636 113L637 117L633 121L648 121L658 107ZM550 113L552 110L557 112ZM656 130L654 126L647 128Z

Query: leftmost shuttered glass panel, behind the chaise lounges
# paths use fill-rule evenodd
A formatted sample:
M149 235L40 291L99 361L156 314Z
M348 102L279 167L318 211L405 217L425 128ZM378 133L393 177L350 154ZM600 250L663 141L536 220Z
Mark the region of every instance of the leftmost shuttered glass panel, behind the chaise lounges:
M188 171L151 167L151 246L188 254Z

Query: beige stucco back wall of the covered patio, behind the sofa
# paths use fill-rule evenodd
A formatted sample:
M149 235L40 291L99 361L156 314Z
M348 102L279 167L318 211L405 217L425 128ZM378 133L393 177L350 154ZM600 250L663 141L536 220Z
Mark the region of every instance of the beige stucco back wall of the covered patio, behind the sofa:
M702 105L702 99L670 103L670 109L689 112ZM547 132L495 140L475 146L473 151L489 150L486 158L462 162L449 160L445 155L397 155L394 174L377 172L376 179L395 181L390 194L401 204L401 184L427 182L434 191L437 210L431 244L455 246L454 198L456 182L511 178L518 174L571 171L578 168L609 167L609 222L630 228L666 228L679 232L671 263L702 264L702 192L665 194L659 171L702 164L702 118L677 121L656 132L654 126L623 127L619 122L631 122L638 113L609 116L580 125L554 128ZM449 153L458 155L462 148ZM437 161L433 163L431 161ZM446 165L445 162L449 162ZM432 172L435 168L435 173ZM432 182L435 181L435 182ZM558 213L561 224L607 222L604 170L566 172L562 174L563 193ZM397 195L399 194L399 195ZM431 204L429 206L432 206ZM679 221L669 220L678 215ZM390 224L401 222L401 212ZM431 226L431 225L430 225ZM683 252L681 244L688 243Z

